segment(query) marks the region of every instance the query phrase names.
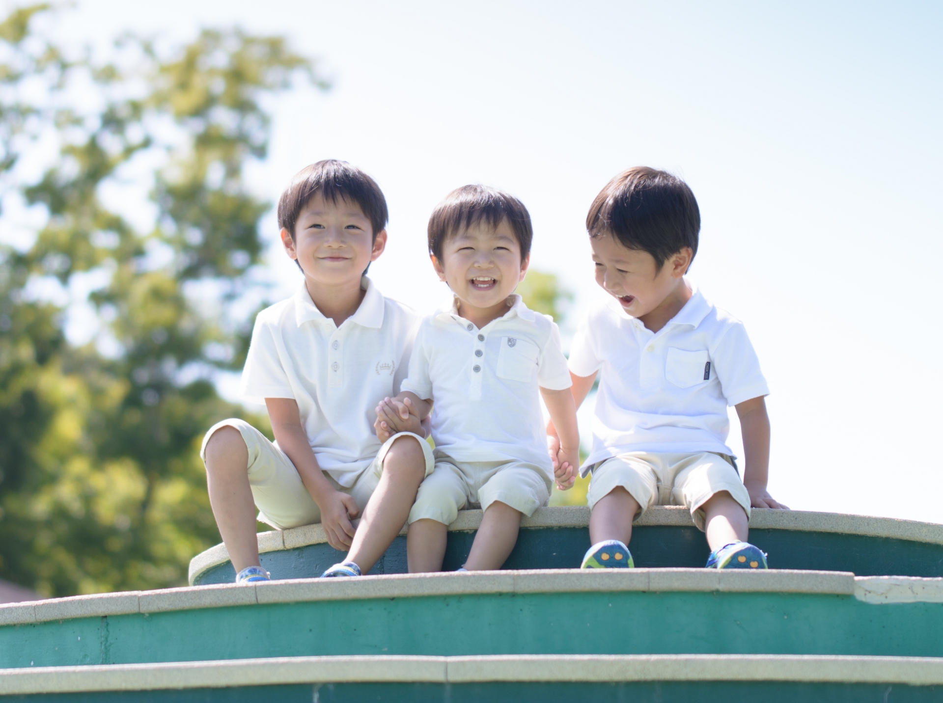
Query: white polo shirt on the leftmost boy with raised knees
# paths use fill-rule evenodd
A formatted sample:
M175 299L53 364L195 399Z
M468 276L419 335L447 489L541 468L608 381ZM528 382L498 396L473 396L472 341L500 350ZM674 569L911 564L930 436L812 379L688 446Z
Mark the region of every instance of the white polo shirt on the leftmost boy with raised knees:
M340 327L311 302L304 283L262 310L240 387L249 402L294 399L318 464L346 487L380 450L376 405L400 392L420 321L366 276L360 286L363 302Z

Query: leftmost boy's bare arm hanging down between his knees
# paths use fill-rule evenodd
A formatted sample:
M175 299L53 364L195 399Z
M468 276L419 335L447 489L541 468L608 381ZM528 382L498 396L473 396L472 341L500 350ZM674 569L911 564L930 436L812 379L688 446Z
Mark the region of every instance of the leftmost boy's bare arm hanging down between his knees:
M265 406L269 409L275 441L288 455L307 492L321 509L321 524L327 543L346 551L354 538L351 519L358 514L356 500L331 485L318 466L318 459L301 426L298 403L291 398L266 398Z

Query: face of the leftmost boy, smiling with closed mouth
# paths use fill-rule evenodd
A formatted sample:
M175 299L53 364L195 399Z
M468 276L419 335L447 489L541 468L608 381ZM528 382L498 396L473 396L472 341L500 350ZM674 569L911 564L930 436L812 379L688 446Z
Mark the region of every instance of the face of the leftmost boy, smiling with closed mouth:
M360 207L345 200L334 203L316 194L295 222L294 239L282 229L282 244L307 281L321 286L359 285L371 261L383 253L387 231L373 237L370 220Z

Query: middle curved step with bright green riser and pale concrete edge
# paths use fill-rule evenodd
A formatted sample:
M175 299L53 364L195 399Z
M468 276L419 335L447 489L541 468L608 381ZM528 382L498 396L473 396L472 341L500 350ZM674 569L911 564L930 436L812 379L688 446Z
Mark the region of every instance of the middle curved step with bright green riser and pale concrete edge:
M943 657L943 579L708 569L368 576L36 601L0 607L0 623L6 667L260 655Z

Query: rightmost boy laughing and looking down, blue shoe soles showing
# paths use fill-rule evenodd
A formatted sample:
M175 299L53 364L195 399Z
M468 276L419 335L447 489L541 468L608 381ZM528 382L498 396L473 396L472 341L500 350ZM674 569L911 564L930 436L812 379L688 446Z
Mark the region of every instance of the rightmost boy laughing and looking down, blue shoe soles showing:
M602 371L583 568L633 566L632 521L655 504L690 510L708 567L767 568L746 540L751 506L786 509L767 492L769 389L743 325L684 277L700 229L687 184L648 168L620 173L589 208L596 282L612 297L589 312L570 355L577 406ZM724 444L728 405L743 431L742 482Z

